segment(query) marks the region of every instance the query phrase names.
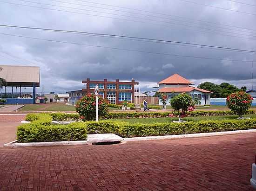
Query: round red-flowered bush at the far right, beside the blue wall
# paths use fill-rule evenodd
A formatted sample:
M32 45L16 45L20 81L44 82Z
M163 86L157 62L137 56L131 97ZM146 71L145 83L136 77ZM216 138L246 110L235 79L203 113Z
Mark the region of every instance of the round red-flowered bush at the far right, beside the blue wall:
M253 98L249 94L240 91L230 94L226 102L228 108L241 117L250 108L252 100Z

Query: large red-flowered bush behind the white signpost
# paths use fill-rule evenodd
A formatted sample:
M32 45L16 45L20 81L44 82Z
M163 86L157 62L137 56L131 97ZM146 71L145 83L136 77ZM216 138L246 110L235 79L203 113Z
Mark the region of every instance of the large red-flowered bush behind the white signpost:
M108 115L108 100L98 96L99 104L99 117L105 117ZM86 96L76 102L76 111L80 115L80 118L86 121L96 119L96 96L88 93Z

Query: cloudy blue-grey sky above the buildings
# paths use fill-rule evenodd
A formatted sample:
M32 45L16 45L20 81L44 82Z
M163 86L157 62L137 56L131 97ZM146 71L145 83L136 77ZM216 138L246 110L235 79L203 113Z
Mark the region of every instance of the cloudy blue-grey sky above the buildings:
M245 3L247 5L232 0L1 0L0 25L156 38L256 51L256 3L254 0ZM255 61L254 68L250 61ZM70 32L0 27L0 64L40 66L41 88L37 91L41 91L43 85L45 93L81 89L84 87L81 81L86 78L120 81L134 78L141 92L151 91L157 82L175 73L195 85L208 81L228 82L248 89L253 83L256 86L256 80L251 79L252 71L256 73L256 53Z

